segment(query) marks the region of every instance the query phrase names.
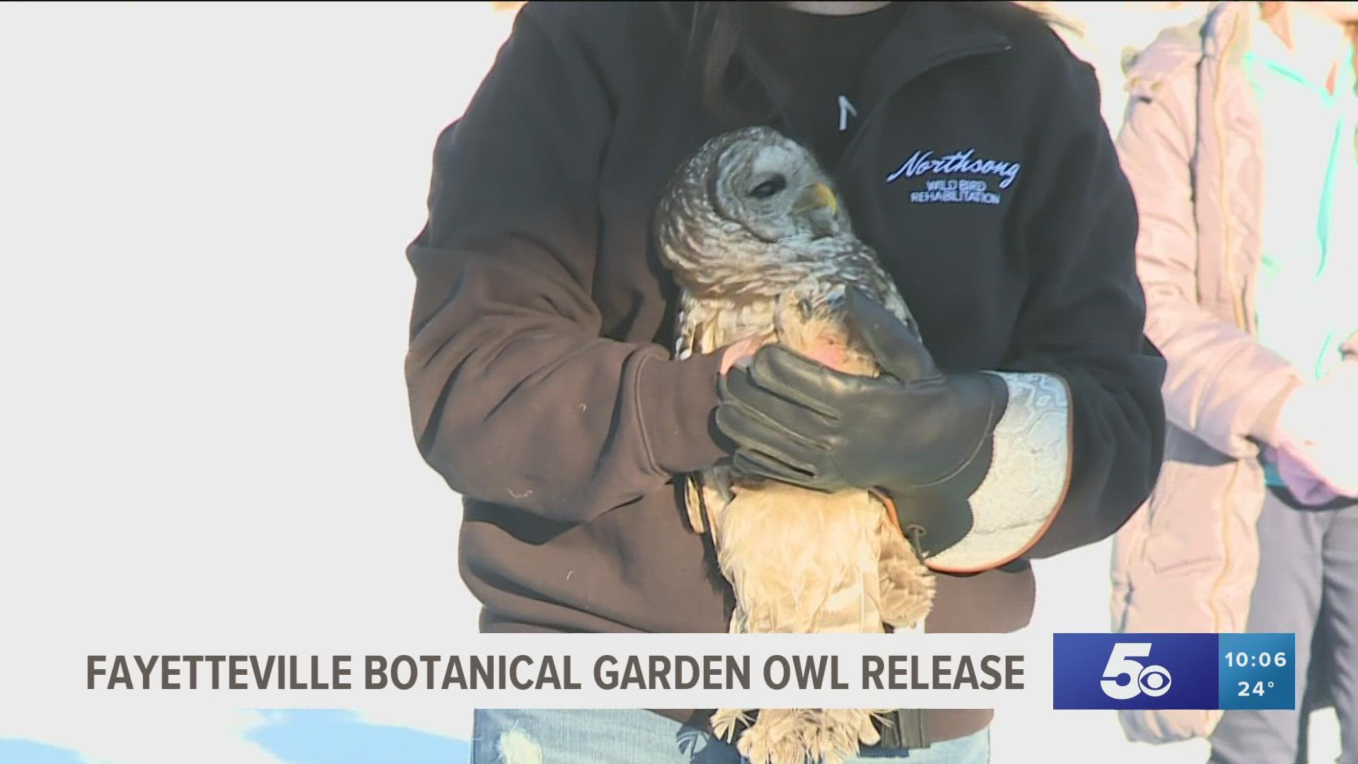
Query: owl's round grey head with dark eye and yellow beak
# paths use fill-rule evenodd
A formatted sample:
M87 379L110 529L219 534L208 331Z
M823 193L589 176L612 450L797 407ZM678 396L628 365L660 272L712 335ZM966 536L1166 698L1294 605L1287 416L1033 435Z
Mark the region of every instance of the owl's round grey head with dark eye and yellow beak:
M667 257L689 269L713 258L735 265L729 261L735 253L722 251L728 247L746 257L759 250L766 257L774 250L786 256L801 243L851 234L815 156L766 126L708 140L671 178L657 222Z

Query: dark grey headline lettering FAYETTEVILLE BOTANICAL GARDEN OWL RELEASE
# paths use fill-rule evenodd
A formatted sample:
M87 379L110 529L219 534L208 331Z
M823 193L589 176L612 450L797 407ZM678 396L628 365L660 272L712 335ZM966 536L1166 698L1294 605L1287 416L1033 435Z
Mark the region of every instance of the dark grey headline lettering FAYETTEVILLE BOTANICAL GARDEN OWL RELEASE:
M1023 689L1023 655L87 655L87 689ZM857 665L853 665L857 663ZM851 684L853 682L853 684Z

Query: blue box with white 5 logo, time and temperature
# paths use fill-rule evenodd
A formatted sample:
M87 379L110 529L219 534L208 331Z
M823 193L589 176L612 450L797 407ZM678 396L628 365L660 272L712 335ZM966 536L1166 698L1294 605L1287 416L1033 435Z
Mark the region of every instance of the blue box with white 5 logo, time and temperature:
M1052 708L1296 708L1293 633L1054 633Z

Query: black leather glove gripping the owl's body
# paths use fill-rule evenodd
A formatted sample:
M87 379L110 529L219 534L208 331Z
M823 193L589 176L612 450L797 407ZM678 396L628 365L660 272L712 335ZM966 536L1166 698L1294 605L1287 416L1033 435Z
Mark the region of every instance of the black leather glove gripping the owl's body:
M736 469L822 491L884 491L917 551L944 551L972 527L968 498L990 468L1008 387L993 374L944 374L910 326L854 290L847 310L880 377L766 345L722 378L717 427L736 445Z

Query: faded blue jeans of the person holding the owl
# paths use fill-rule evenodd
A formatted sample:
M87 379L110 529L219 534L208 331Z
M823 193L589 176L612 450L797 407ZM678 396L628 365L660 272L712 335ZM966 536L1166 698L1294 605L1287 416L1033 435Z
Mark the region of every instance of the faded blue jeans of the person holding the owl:
M851 764L986 764L990 730L915 750L868 749ZM733 745L629 710L479 710L471 764L746 764Z

